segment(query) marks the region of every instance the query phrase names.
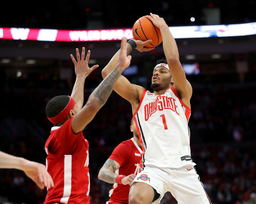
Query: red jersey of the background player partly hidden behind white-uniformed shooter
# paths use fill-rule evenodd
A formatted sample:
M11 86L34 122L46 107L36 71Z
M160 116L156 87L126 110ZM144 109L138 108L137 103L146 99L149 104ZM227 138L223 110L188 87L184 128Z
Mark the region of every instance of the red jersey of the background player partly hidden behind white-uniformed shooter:
M120 165L120 168L115 173L125 176L139 173L141 153L142 150L134 138L121 142L109 157L109 159L115 160ZM109 191L110 199L107 203L128 203L129 189L129 185L114 184Z

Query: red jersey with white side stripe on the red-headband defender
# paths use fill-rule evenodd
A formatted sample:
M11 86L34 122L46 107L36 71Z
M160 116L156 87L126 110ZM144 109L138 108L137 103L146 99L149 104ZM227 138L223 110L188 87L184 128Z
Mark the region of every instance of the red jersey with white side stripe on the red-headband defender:
M53 127L45 143L46 167L54 187L47 189L44 204L89 204L89 143L83 133L74 134L72 118Z

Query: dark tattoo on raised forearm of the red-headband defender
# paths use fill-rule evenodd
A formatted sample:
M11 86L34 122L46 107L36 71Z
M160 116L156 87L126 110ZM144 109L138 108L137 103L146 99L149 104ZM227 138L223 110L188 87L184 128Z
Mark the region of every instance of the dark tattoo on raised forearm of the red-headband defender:
M120 76L118 69L113 69L112 72L100 83L100 85L93 91L93 95L100 99L100 106L103 106L111 92L113 91L114 83Z

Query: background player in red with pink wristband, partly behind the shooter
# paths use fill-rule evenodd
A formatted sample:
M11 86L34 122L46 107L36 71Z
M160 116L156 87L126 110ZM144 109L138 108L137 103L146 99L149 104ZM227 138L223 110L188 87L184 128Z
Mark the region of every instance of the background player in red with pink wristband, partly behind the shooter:
M98 175L100 180L114 184L106 204L127 204L131 182L140 170L142 149L133 119L130 129L133 137L121 142L113 150Z

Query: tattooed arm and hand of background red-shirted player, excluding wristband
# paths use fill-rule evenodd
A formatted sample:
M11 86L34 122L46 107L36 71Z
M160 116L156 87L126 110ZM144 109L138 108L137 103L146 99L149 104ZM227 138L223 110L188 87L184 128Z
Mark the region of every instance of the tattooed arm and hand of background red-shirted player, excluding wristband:
M101 167L98 178L107 183L114 184L116 183L116 177L118 174L114 173L117 169L119 169L120 165L113 159L108 159L105 164ZM121 183L123 185L131 185L133 179L135 178L135 174L130 174L123 179L121 179Z

